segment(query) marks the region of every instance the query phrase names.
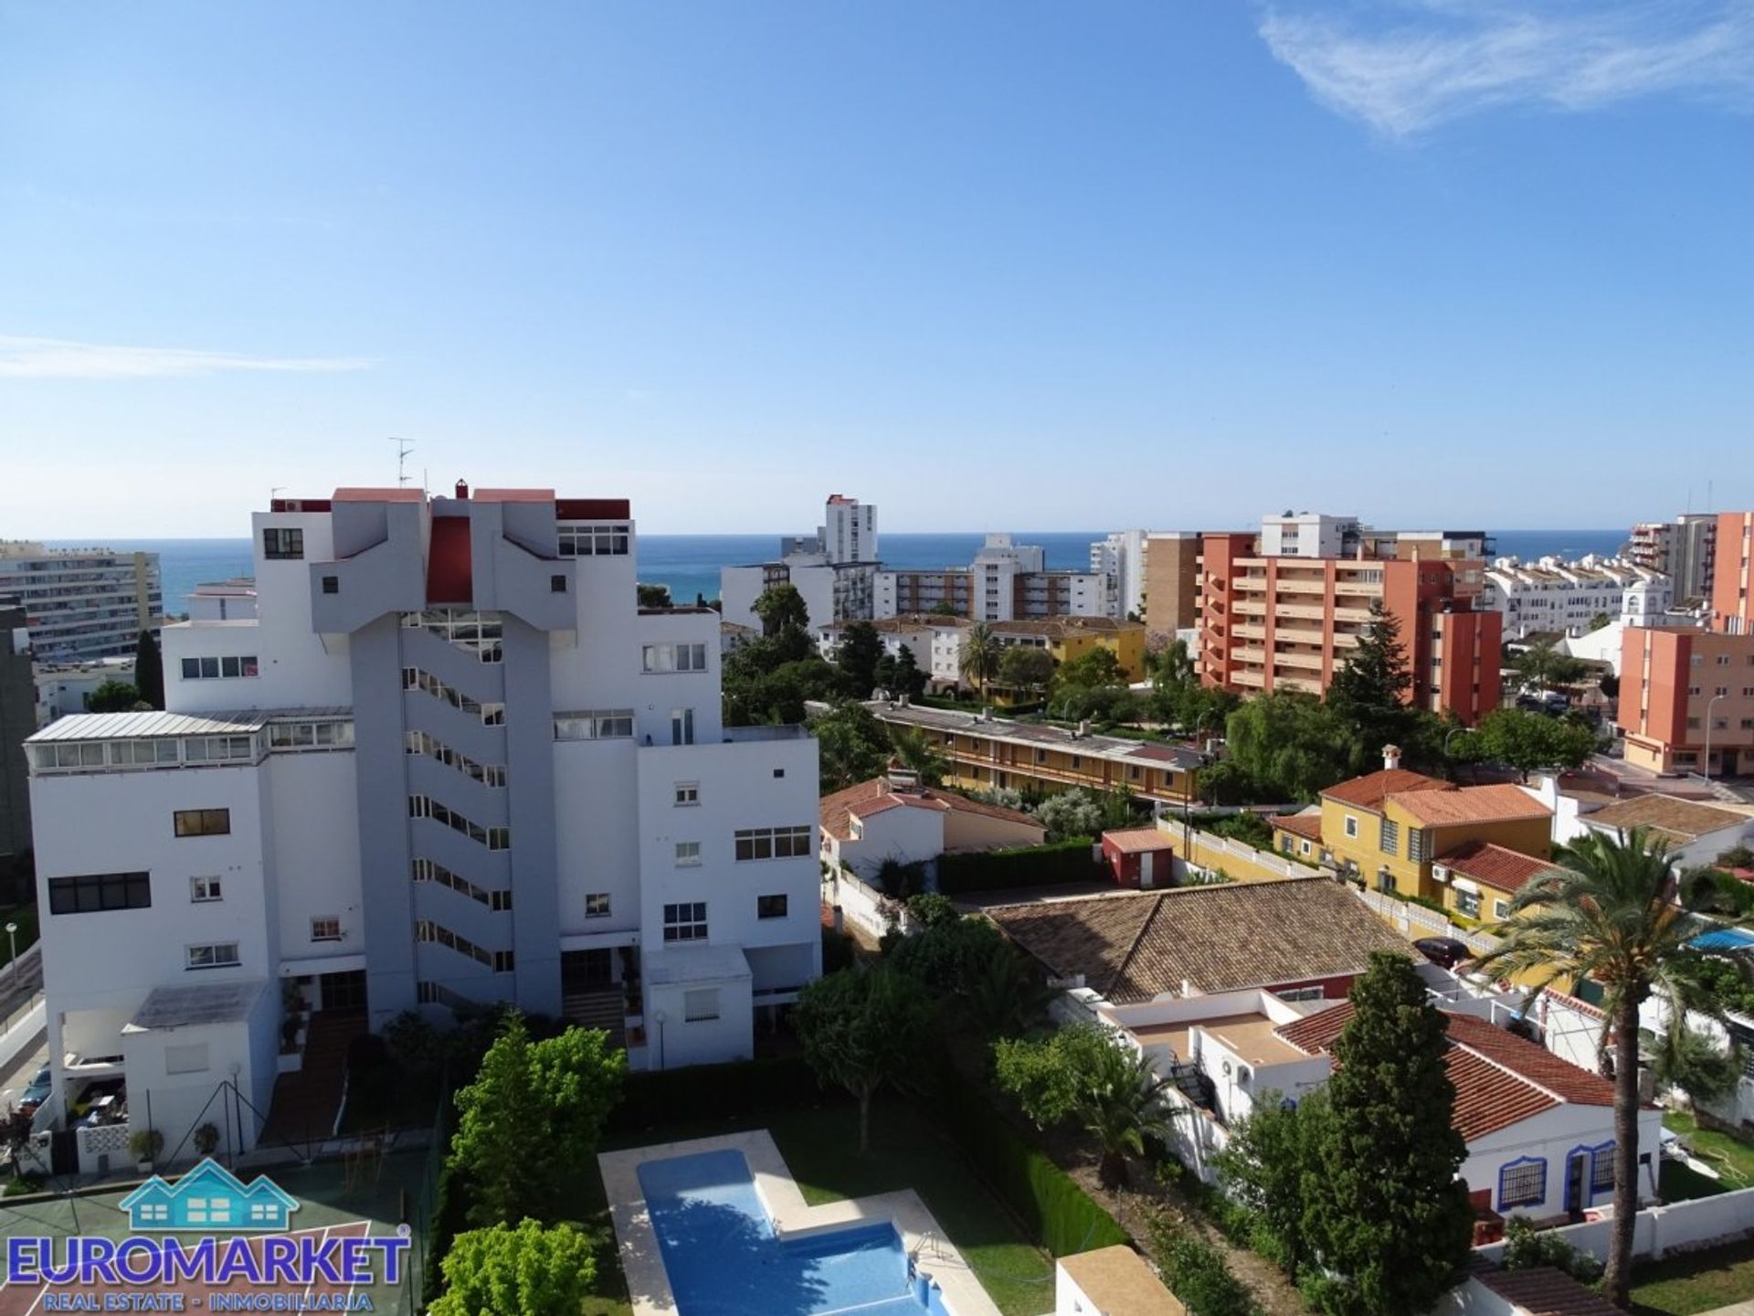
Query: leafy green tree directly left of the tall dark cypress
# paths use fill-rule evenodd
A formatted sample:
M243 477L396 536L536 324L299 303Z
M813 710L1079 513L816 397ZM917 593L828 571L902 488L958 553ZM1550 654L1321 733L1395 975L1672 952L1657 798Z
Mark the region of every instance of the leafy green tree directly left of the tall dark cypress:
M1323 1090L1301 1102L1266 1091L1254 1102L1254 1114L1231 1128L1217 1158L1219 1183L1231 1200L1258 1216L1293 1283L1308 1258L1303 1191L1307 1177L1319 1174L1316 1149L1326 1137L1326 1116Z

